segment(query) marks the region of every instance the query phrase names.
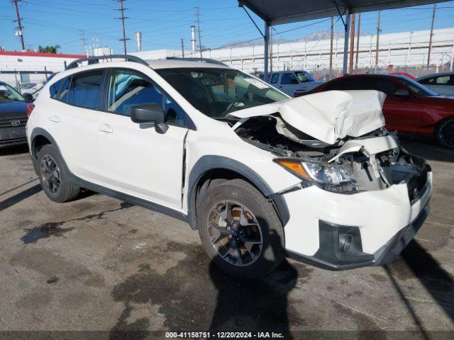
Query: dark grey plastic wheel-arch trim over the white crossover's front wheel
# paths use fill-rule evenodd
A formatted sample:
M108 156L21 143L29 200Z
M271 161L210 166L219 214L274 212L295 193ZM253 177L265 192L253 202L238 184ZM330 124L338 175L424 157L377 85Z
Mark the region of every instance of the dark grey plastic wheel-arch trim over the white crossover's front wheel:
M272 191L270 186L265 182L259 174L257 174L253 169L250 169L245 164L236 161L235 159L231 159L228 157L222 156L204 156L201 157L196 164L191 169L188 179L188 193L187 193L187 206L188 206L188 222L191 225L192 229L196 228L196 209L195 209L195 189L197 183L201 179L204 174L208 171L216 170L216 169L224 169L235 171L236 173L240 174L241 176L248 179L253 185L258 188L258 191L265 196L270 203L275 207L277 212L277 216L284 227L289 222L289 210L287 208L287 203L285 203L284 198L281 195L275 195Z

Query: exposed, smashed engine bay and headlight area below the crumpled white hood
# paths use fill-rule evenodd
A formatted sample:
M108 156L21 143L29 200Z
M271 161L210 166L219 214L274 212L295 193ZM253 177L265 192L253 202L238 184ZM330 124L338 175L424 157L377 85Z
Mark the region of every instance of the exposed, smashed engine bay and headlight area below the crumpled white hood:
M383 127L360 137L345 136L333 145L297 130L279 113L245 118L233 128L245 142L282 157L283 162L301 163L297 176L307 186L358 193L407 183L412 201L426 185L425 160L399 147L397 135Z

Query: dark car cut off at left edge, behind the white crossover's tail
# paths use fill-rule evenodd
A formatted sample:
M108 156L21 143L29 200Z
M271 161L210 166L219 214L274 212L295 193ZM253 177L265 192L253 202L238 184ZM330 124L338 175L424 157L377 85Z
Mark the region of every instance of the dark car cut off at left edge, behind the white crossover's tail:
M27 97L30 101L31 96ZM0 81L0 147L27 142L26 123L31 111L32 103L12 86Z

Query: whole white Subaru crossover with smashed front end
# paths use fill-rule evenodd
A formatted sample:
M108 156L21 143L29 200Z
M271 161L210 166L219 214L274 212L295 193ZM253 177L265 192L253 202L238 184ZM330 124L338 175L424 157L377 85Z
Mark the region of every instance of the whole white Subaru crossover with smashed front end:
M56 202L87 188L187 221L224 271L283 256L389 263L428 214L432 172L384 129L377 91L289 98L216 62L78 60L35 101L28 144Z

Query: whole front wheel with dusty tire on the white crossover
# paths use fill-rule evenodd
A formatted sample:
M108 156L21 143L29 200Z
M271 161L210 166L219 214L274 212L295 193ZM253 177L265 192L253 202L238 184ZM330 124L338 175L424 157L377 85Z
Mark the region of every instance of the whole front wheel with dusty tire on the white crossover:
M246 181L209 188L198 204L197 221L211 261L232 276L261 278L284 258L284 229L275 209Z

